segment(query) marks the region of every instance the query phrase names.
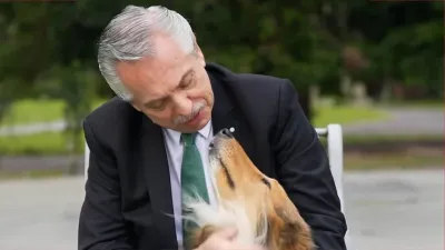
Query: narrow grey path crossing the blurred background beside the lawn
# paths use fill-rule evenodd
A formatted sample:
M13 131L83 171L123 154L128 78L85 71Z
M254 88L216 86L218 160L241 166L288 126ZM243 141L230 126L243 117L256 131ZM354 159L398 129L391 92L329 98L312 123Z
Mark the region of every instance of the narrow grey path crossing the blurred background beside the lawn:
M388 109L389 119L376 122L358 122L344 126L345 134L443 134L444 111L439 109L412 108ZM46 131L60 131L66 122L55 121L0 128L0 136L30 134Z

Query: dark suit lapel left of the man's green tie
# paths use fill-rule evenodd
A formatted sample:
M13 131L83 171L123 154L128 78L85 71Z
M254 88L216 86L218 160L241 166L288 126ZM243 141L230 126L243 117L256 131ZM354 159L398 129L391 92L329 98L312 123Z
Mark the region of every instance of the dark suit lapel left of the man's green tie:
M162 130L147 117L142 118L140 152L141 166L147 179L150 203L154 210L152 220L159 232L158 244L162 249L177 249L171 186Z

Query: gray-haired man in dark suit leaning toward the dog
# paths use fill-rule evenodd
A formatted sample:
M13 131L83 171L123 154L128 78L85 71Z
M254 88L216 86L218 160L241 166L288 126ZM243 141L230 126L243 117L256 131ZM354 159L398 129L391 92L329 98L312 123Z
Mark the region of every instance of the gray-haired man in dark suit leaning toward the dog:
M162 7L129 6L115 17L98 61L118 97L83 123L91 154L79 250L181 249L182 141L195 140L201 179L194 181L205 187L208 144L224 128L283 184L318 249L346 249L327 156L291 82L207 63L187 20ZM199 249L257 249L236 246L235 236L222 231Z

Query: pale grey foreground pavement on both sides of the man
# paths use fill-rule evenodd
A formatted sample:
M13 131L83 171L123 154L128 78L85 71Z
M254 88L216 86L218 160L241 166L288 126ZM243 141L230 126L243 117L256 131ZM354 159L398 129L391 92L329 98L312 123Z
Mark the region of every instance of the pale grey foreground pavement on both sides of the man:
M82 178L0 182L1 250L76 250ZM441 170L345 174L350 250L443 250Z

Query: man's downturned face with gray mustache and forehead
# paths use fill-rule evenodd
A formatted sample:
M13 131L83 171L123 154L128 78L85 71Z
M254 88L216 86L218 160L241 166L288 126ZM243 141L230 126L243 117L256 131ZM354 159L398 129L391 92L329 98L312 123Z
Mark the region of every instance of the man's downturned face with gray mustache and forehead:
M200 130L210 120L214 107L201 51L185 53L166 36L159 36L155 44L155 57L117 64L118 76L134 94L131 104L164 128Z

